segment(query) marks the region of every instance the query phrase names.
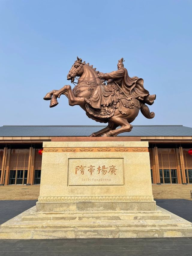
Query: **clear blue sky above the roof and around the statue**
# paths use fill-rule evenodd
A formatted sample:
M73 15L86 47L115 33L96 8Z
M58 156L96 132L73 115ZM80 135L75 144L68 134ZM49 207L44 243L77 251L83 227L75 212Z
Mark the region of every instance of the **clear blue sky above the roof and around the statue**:
M62 95L78 55L99 71L124 57L131 77L156 94L133 125L192 127L192 1L0 0L0 125L98 125Z

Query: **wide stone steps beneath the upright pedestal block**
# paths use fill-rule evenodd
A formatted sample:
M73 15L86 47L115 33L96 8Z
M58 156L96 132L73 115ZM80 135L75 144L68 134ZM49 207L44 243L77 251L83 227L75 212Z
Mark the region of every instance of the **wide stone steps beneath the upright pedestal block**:
M0 239L191 237L192 223L156 211L36 212L35 206L1 225Z

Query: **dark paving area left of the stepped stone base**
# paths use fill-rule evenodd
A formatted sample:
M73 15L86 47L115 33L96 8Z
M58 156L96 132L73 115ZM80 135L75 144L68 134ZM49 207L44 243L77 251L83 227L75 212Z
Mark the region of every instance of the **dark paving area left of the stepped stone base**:
M37 200L0 200L0 224L36 204Z

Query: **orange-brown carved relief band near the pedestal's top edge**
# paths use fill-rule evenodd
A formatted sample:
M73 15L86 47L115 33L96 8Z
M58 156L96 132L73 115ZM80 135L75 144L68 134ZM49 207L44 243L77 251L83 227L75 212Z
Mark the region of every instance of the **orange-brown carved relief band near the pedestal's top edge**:
M44 152L149 152L147 147L62 147L44 148Z

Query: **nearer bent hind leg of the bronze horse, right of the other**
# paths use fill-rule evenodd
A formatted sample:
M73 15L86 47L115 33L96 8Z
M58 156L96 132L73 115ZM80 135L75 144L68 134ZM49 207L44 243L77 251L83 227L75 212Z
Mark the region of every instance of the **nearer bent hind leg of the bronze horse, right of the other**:
M108 131L107 133L105 133L103 135L103 137L115 137L117 136L119 133L122 132L129 132L132 130L133 126L130 125L130 123L127 121L127 119L124 119L122 117L111 117L110 118L111 121L113 121L114 123L116 123L117 126L121 126L121 128L117 129L117 130L111 130Z

